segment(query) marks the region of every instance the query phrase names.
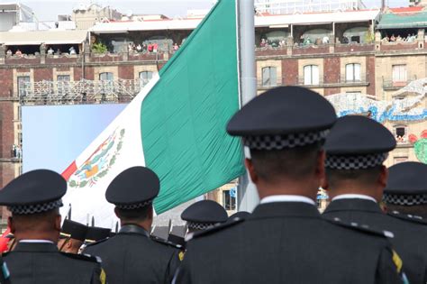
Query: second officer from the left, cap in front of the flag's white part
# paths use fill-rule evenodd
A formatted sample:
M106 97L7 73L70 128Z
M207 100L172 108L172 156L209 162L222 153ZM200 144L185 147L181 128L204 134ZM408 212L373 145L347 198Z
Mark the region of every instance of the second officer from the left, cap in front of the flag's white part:
M179 263L178 251L150 239L152 201L159 194L159 178L148 168L124 170L105 192L115 205L122 228L114 237L87 245L84 252L102 258L108 282L170 283Z

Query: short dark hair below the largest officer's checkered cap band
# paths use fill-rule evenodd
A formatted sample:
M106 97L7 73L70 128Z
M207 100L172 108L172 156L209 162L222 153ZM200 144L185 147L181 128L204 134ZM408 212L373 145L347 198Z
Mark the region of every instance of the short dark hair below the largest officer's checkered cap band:
M322 142L316 142L283 150L250 150L250 156L259 179L304 179L314 172L321 147Z

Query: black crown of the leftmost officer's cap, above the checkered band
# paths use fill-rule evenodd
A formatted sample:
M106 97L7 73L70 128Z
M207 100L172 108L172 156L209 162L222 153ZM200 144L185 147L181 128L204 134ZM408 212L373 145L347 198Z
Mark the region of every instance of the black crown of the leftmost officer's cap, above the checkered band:
M0 190L2 206L43 205L59 200L67 192L67 181L49 169L24 173Z

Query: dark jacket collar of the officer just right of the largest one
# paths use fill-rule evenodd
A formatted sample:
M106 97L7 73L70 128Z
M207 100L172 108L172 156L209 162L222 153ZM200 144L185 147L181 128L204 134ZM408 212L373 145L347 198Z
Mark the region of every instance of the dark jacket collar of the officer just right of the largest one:
M334 199L330 205L326 207L324 213L333 211L363 211L383 214L383 211L376 202L361 198Z

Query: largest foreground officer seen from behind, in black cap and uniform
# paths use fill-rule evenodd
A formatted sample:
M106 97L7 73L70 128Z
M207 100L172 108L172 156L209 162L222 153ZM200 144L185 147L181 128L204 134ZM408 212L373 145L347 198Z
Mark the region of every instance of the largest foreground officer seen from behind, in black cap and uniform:
M260 205L245 220L195 234L177 283L401 283L383 235L322 218L314 200L333 106L302 87L277 87L232 117ZM398 267L392 260L395 260Z

